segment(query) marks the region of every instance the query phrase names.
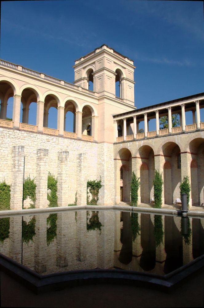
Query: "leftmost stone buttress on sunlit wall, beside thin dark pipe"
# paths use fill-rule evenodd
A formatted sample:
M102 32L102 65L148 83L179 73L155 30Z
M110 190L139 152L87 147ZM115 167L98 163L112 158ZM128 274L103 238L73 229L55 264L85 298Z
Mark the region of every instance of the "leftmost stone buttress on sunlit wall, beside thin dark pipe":
M12 183L10 209L19 210L23 207L24 180L24 147L12 147Z

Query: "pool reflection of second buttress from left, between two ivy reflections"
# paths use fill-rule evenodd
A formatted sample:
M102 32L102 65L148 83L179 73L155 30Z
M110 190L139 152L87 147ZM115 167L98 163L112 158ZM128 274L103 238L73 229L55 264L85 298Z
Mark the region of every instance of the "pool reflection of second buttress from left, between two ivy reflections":
M47 217L48 214L36 215L35 222L35 271L39 274L47 270Z

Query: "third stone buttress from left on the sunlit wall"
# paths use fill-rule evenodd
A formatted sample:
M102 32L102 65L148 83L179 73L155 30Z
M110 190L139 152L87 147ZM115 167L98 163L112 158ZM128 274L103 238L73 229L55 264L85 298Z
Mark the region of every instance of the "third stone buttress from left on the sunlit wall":
M69 188L69 152L58 152L57 198L58 206L67 206Z

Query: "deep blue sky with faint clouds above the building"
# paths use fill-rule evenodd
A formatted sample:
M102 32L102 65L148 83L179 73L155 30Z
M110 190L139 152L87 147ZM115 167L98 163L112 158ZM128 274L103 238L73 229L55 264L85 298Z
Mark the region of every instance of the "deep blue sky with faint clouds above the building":
M74 60L104 43L134 60L137 108L204 91L203 2L1 2L1 59L73 82Z

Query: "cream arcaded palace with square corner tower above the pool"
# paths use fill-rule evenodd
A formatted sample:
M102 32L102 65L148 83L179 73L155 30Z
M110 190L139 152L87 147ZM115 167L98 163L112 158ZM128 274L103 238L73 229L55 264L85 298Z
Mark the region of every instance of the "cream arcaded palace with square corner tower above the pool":
M73 68L74 82L68 83L0 60L0 181L11 185L10 208L22 209L28 176L37 185L36 208L47 207L48 172L57 177L59 206L74 203L76 193L77 204L85 205L87 180L100 178L98 204L127 203L132 171L140 177L139 204L150 206L156 169L163 176L163 207L175 206L184 176L191 184L190 208L204 205L204 93L136 109L133 61L107 45L75 60ZM6 115L11 97L12 121ZM33 102L36 125L29 124ZM51 107L57 109L57 129L48 125ZM65 130L69 111L74 119L71 132ZM190 125L187 111L192 111ZM172 127L174 114L179 115L177 127ZM168 128L160 129L163 116L168 117ZM141 121L144 132L139 132Z

